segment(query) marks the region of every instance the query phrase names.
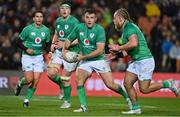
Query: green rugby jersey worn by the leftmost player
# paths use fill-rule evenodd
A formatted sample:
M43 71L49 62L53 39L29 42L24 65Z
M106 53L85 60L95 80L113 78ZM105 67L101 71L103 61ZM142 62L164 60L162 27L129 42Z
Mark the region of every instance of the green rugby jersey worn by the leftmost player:
M19 35L25 47L33 49L34 55L40 55L43 51L43 44L50 41L50 32L45 25L36 27L35 24L26 26ZM26 54L23 51L23 54Z

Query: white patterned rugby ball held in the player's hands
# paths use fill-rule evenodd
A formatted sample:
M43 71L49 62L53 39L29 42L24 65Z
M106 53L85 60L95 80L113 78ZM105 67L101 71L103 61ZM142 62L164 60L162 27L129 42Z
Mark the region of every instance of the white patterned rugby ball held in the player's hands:
M77 62L77 57L78 57L78 54L77 52L71 52L71 51L68 51L66 54L65 54L65 60L69 63L74 63L74 62Z

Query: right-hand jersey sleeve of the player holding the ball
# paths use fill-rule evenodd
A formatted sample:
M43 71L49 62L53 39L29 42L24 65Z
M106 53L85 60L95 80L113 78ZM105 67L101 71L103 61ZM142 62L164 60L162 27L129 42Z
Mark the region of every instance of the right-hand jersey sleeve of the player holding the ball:
M96 43L105 43L106 42L106 34L104 28L99 28L97 30L97 40Z

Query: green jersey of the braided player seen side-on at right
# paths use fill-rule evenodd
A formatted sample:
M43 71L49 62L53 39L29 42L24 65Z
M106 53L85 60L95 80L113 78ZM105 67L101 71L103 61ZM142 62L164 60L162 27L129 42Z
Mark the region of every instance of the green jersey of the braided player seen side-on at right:
M122 42L126 44L128 42L128 38L133 35L137 35L138 46L129 50L128 55L131 56L133 61L138 61L146 58L152 58L152 54L148 48L146 39L138 28L137 25L131 23L129 21L125 21L122 28Z

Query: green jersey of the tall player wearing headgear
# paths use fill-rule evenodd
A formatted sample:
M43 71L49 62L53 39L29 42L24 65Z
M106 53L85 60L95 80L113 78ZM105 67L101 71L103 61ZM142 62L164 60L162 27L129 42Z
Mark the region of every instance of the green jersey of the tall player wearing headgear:
M58 35L58 39L60 41L65 41L67 39L67 36L72 32L72 30L79 24L79 21L70 15L66 19L63 19L62 17L59 17L56 19L56 29L55 32ZM62 48L59 48L61 51ZM74 45L70 47L71 51L79 51L78 45Z

